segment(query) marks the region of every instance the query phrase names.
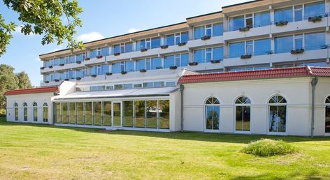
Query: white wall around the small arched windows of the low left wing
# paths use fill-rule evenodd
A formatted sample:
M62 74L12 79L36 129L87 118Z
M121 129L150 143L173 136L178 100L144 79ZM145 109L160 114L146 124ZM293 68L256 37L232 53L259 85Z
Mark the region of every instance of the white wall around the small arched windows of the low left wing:
M14 104L18 105L18 121L24 122L23 103L27 103L27 122L29 123L43 123L43 103L48 104L48 123L52 123L52 102L50 98L54 93L29 93L13 96L6 96L7 98L7 121L15 121ZM34 122L33 103L38 104L38 122ZM26 121L25 121L26 122Z

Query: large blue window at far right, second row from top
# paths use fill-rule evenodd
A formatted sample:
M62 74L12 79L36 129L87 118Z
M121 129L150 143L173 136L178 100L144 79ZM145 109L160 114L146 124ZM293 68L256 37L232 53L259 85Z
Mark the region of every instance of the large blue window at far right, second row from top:
M325 47L325 33L306 33L306 50L320 50Z

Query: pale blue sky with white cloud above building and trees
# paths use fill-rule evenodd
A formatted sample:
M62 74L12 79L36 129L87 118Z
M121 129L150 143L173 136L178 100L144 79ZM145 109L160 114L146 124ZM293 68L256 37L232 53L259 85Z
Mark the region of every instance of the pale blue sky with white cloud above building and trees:
M84 12L80 14L83 26L77 29L78 40L96 40L129 33L138 30L162 27L178 22L185 22L187 17L213 13L222 6L245 2L246 0L97 0L79 1ZM7 21L17 25L17 14L0 4L0 12ZM66 48L64 45L41 45L42 36L24 36L19 29L10 41L7 53L0 57L0 63L6 63L15 68L15 72L24 70L29 74L34 86L41 81L38 55Z

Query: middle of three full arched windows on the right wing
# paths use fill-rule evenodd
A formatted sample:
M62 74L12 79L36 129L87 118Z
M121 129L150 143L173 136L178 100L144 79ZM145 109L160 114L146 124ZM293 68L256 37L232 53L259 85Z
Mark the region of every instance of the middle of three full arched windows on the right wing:
M241 96L235 101L236 130L250 130L251 100Z

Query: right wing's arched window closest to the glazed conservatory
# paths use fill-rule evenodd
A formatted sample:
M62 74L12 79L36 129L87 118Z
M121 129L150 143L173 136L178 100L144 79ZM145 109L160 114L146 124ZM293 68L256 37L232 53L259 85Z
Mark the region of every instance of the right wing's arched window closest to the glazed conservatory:
M217 98L210 97L205 103L205 119L207 130L219 130L220 103Z

